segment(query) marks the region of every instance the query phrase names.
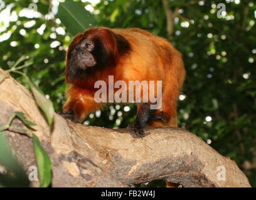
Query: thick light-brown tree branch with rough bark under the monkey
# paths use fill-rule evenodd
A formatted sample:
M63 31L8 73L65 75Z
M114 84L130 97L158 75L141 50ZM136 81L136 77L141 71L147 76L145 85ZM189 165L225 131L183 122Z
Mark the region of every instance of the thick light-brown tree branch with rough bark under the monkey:
M11 76L0 84L0 111L0 126L15 111L37 124L34 133L53 163L53 187L126 187L156 179L184 187L250 187L234 161L184 129L146 128L147 136L134 139L127 129L75 124L55 114L50 133L31 94ZM19 119L12 125L24 126ZM36 165L31 136L5 134L24 169ZM218 166L225 166L226 181L218 181Z

